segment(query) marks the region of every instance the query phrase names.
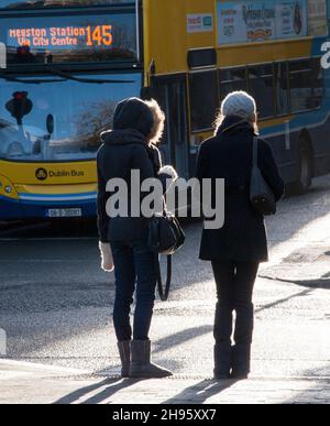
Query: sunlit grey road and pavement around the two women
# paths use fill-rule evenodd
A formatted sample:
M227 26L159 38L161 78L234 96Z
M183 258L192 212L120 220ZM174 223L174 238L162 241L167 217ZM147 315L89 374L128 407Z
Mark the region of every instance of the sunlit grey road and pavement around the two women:
M237 383L211 380L215 284L197 260L199 223L185 225L170 299L155 307L154 359L175 372L161 381L118 378L113 275L99 270L95 230L0 231L0 404L330 403L329 223L330 176L267 219L252 374Z

